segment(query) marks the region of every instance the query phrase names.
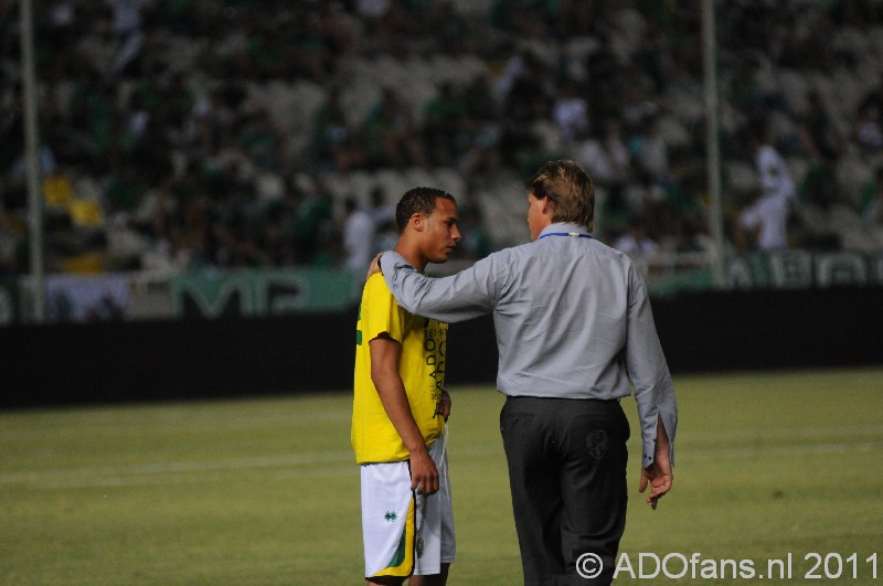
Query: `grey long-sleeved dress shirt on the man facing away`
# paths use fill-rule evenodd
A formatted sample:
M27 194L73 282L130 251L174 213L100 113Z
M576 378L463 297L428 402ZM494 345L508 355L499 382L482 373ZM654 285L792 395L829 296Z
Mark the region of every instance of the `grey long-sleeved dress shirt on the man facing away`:
M412 313L457 322L493 313L497 388L509 396L635 401L642 465L653 462L661 416L673 461L678 408L647 289L629 257L584 226L546 226L535 242L428 278L401 255L381 269Z

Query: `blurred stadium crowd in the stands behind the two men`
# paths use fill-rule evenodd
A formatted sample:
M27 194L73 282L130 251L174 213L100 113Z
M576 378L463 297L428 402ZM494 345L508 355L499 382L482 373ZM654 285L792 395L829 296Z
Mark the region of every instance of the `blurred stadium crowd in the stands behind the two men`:
M509 244L490 242L482 193L554 157L593 174L598 237L635 254L709 246L698 2L34 7L50 271L342 266L353 194L333 179L439 168L465 190L459 254L480 257ZM741 220L765 189L760 143L795 184L785 246L883 248L883 3L725 0L717 26L730 245L760 246ZM19 33L18 2L0 0L7 276L29 271ZM374 92L354 92L359 64L384 60L426 76L376 67ZM480 67L434 67L467 60ZM280 107L279 87L306 90ZM372 195L362 242L383 242L400 194Z

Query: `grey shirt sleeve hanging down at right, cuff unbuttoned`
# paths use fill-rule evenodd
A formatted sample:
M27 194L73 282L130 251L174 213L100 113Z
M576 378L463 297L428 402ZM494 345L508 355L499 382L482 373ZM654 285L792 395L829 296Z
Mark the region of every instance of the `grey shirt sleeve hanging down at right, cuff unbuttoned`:
M656 458L657 426L660 418L669 439L669 457L674 462L678 406L674 384L659 343L647 289L634 268L629 273L629 280L626 367L635 385L643 445L641 465L647 468Z

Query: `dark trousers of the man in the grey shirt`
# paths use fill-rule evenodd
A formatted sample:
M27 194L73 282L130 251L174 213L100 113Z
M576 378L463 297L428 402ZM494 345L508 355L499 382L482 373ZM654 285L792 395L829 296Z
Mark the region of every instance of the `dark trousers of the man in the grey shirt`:
M509 397L500 431L524 584L609 584L628 500L619 402ZM600 557L598 577L577 573L584 554ZM591 564L582 569L591 574Z

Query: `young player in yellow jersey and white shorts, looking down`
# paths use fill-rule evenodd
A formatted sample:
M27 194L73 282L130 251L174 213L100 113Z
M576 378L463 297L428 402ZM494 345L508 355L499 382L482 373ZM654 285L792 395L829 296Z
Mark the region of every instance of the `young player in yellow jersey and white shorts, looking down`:
M454 198L415 188L396 206L396 252L423 270L460 238ZM454 561L445 452L447 323L412 315L383 276L365 283L359 309L352 446L361 465L369 584L444 585Z

